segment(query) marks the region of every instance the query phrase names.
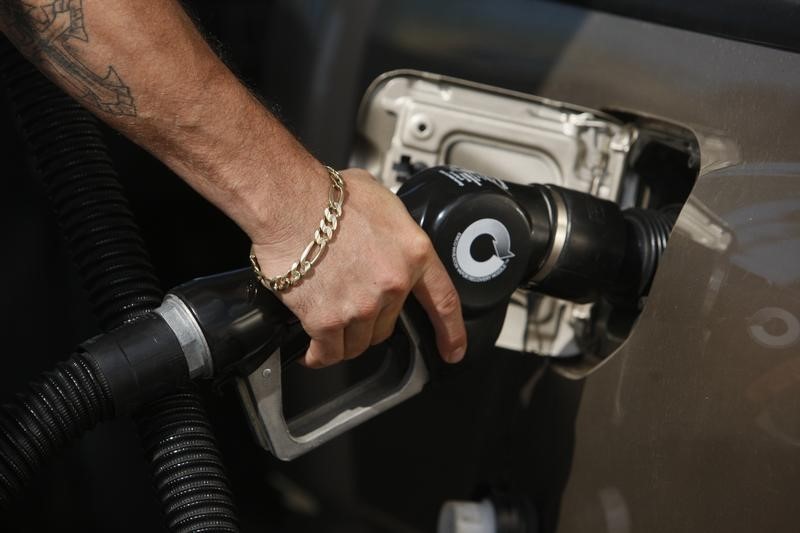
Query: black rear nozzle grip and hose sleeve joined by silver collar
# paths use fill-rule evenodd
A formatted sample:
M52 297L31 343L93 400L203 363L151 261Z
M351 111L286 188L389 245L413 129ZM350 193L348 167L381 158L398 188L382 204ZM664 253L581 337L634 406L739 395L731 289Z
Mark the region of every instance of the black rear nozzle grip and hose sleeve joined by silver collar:
M298 329L252 270L242 269L180 285L158 309L81 348L97 362L121 414L192 379L246 370Z

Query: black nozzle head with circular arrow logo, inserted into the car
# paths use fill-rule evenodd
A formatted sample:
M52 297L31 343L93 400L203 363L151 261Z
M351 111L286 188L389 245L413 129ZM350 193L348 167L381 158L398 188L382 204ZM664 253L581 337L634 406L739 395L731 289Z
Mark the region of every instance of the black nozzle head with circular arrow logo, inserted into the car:
M622 211L587 193L454 167L420 172L398 195L433 241L465 318L484 331L499 331L497 308L521 287L574 302L637 302L675 222L670 213ZM487 324L489 315L500 324Z

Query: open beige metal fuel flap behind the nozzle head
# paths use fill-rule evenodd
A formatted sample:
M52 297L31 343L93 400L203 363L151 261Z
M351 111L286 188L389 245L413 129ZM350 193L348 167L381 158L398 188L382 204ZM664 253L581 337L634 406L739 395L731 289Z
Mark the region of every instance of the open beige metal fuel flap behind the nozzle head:
M673 124L416 71L370 86L358 133L352 164L395 191L420 170L450 165L677 214L699 162L694 136ZM620 308L519 290L497 346L559 358L579 376L625 340L645 301Z

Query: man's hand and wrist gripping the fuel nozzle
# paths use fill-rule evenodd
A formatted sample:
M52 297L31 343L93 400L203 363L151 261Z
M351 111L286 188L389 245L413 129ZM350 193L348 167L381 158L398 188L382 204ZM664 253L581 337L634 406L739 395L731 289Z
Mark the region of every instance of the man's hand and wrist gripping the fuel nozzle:
M367 172L351 169L342 175L346 196L334 239L303 281L280 294L311 336L305 364L351 359L389 338L410 292L428 313L444 360L460 361L466 350L460 301L428 236ZM293 216L290 236L255 243L265 275L285 272L319 224L327 176L312 181L303 203L316 208L293 216L292 199L285 199L286 216Z

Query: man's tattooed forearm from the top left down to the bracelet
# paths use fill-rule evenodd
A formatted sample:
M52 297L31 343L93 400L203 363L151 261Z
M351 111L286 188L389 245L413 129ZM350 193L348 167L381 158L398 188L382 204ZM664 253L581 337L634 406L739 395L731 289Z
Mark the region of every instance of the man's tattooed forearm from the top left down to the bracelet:
M51 79L253 239L301 229L279 212L287 198L309 198L318 210L324 170L216 57L178 2L0 0L0 26Z

